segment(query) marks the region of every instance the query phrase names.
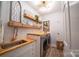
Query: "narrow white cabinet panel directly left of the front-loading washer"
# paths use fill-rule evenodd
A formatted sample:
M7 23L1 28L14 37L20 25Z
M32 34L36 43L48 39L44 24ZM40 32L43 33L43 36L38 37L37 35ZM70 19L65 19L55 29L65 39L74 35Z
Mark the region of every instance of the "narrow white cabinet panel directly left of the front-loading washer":
M33 56L40 57L40 36L32 35L35 42L33 43Z

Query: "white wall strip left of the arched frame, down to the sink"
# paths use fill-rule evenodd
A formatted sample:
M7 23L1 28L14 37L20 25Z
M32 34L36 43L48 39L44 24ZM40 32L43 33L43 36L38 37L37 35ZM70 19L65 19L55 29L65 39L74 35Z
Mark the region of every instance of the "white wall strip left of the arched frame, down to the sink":
M10 42L13 36L13 28L7 26L9 21L10 2L2 2L1 20L3 27L3 40L4 43Z

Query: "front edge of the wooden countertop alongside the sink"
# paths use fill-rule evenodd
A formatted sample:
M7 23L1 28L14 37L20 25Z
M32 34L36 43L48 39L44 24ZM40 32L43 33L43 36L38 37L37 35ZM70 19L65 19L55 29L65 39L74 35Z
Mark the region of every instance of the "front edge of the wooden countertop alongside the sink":
M20 48L20 47L22 47L22 46L24 46L24 45L28 45L28 44L34 42L35 40L26 39L25 41L26 41L25 43L22 43L22 44L19 44L19 45L10 47L10 48L0 49L0 55L3 55L4 53L10 52L10 51L12 51L12 50L14 50L14 49Z

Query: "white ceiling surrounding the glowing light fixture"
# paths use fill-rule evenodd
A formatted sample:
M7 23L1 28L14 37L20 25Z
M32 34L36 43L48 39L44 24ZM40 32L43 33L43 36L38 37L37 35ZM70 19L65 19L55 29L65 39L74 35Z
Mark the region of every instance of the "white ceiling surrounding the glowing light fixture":
M30 7L35 9L40 15L47 15L62 10L63 1L48 1L48 7L39 7L38 5L36 5L39 4L39 2L40 1L27 1Z

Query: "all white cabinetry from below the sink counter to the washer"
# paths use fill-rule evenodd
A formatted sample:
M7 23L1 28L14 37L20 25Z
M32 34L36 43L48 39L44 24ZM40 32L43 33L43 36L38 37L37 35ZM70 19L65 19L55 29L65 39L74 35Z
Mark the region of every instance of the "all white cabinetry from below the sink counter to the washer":
M40 57L40 36L33 36L34 42L1 55L4 57Z

